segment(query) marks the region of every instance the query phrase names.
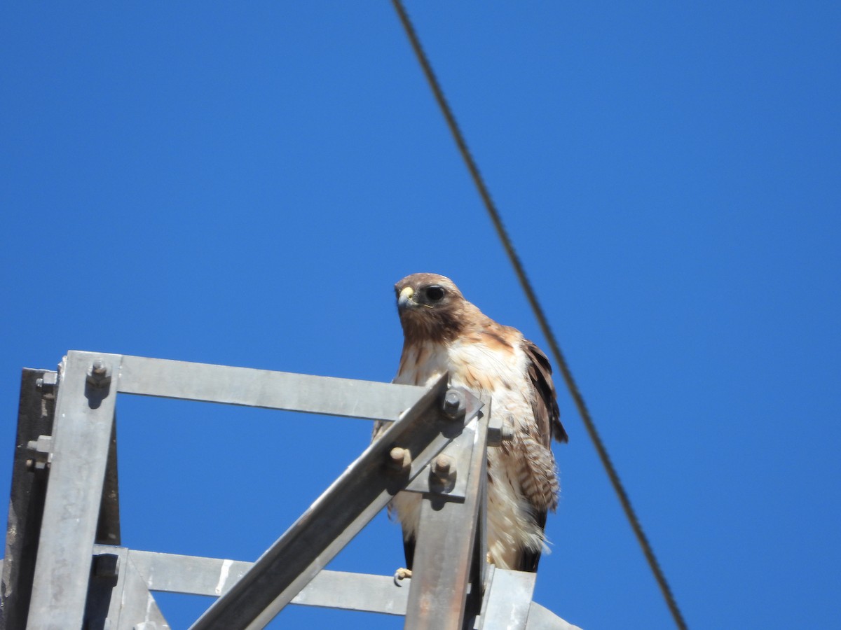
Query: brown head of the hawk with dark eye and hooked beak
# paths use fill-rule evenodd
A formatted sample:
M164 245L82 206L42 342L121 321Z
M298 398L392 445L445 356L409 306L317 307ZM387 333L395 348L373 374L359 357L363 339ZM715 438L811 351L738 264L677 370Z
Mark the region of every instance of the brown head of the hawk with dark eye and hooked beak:
M443 343L458 337L473 305L452 280L438 274L412 274L394 285L397 311L407 342Z

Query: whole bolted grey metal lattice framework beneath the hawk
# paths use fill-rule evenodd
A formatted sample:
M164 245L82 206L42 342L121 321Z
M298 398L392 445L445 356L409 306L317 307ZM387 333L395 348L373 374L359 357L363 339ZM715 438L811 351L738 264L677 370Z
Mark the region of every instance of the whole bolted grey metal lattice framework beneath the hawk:
M119 393L393 421L255 563L119 546ZM447 388L71 351L24 370L0 627L168 628L152 591L214 596L193 625L261 628L289 603L405 616L407 628L573 628L534 574L484 561L489 401ZM446 457L449 475L431 463ZM325 570L398 491L423 501L415 572ZM429 604L434 602L434 606Z

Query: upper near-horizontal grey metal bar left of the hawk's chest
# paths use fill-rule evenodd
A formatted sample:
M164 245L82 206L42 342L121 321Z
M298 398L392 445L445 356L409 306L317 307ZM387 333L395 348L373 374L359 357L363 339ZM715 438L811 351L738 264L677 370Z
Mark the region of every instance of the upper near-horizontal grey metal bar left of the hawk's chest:
M118 391L330 416L396 420L425 387L124 354Z

